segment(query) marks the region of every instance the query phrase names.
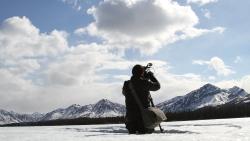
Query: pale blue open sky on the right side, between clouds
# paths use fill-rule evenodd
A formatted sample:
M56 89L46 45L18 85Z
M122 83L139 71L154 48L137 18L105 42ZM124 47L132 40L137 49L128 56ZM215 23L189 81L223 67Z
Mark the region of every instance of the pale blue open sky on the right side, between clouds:
M179 73L185 73L187 69L191 72L199 73L204 68L199 66L190 66L190 63L195 59L208 60L213 56L218 56L227 63L227 65L237 70L233 76L224 77L224 79L231 79L242 77L249 73L249 31L250 17L248 14L249 2L236 2L233 0L219 1L215 4L210 4L204 7L194 5L192 8L200 17L199 27L213 27L216 25L225 27L226 30L222 35L211 34L198 37L192 40L181 41L170 45L170 48L165 48L167 54L166 60L177 64L180 68L177 69ZM211 18L204 17L201 9L209 9ZM156 56L164 56L159 53ZM236 56L244 58L244 63L235 64ZM184 60L182 58L185 57ZM180 61L182 60L182 61ZM243 61L243 60L242 60ZM185 66L185 70L181 69Z

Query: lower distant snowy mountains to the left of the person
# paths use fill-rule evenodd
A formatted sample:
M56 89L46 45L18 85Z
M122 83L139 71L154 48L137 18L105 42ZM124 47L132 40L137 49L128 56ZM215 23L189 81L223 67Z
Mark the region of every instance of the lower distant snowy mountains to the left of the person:
M123 116L125 106L102 99L95 104L80 106L73 104L67 108L59 108L46 114L19 114L13 111L0 110L0 124L48 121L55 119L74 119L79 117L103 118Z

